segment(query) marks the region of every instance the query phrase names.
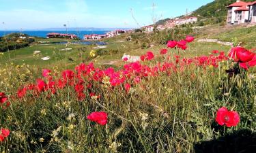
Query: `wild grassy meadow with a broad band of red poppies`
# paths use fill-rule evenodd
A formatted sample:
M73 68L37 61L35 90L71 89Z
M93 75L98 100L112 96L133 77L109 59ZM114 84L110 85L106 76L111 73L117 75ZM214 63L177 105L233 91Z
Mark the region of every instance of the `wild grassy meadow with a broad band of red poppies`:
M240 31L232 37L239 38ZM208 37L229 40L227 35ZM202 32L197 36L185 51L168 48L165 55L160 54L162 48L167 48L165 44L141 48L137 41L126 41L127 35L105 39L106 48L102 49L52 43L62 41L59 39L36 39L27 48L3 52L0 92L5 92L10 103L1 104L0 118L1 127L10 129L10 135L1 142L0 151L246 150L243 141L256 142L256 69L227 73L238 67L227 58L231 46L199 43L197 39L205 35ZM246 44L254 43L242 39ZM63 48L72 50L60 51ZM35 50L41 52L33 54ZM123 54L141 56L148 51L154 53L154 59L140 63L122 60ZM51 58L43 61L44 56ZM43 77L42 69L51 69L50 77ZM73 73L64 72L66 69ZM42 90L23 92L25 86L37 86L39 78L44 82ZM237 126L216 122L221 107L238 112ZM107 124L88 120L92 112L106 112ZM241 143L241 148L232 146L234 143Z

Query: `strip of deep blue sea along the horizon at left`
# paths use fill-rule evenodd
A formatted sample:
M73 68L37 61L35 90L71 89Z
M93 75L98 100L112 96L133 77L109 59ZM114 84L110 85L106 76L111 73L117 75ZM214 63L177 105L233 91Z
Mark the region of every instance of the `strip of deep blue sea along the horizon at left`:
M83 39L83 35L90 34L106 34L109 31L68 31L68 34L74 34ZM7 35L9 33L25 33L30 36L35 37L46 37L47 33L67 33L66 31L0 31L0 37L3 35Z

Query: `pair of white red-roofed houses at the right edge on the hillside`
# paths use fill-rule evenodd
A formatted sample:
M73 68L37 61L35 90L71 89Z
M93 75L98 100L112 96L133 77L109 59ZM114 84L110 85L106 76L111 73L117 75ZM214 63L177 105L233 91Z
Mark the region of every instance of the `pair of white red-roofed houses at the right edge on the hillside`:
M227 6L227 24L256 23L256 1L237 0Z

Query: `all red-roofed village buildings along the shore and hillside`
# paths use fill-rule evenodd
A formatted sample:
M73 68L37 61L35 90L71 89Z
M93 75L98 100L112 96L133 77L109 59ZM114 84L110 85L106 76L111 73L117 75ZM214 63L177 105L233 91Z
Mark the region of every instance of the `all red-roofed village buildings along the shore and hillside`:
M158 24L156 27L154 25L147 25L141 27L142 31L152 32L154 28L159 31L164 29L172 29L175 26L180 26L182 24L193 24L198 22L197 17L190 16L186 18L174 18L167 20L165 24ZM227 6L227 24L242 24L242 23L256 23L256 1L254 2L244 2L237 0L236 3L232 3ZM121 35L122 33L132 33L134 30L116 30L110 31L104 35L91 34L84 35L84 40L98 40L104 37L115 37L116 35ZM78 38L74 34L63 34L63 33L48 33L47 38L68 38L76 39Z

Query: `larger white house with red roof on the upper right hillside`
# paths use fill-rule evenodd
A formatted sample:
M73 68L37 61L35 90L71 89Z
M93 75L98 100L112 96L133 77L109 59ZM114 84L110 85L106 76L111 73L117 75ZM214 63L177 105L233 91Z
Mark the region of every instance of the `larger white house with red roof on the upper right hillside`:
M241 24L248 22L249 5L244 1L237 0L227 6L227 24Z

